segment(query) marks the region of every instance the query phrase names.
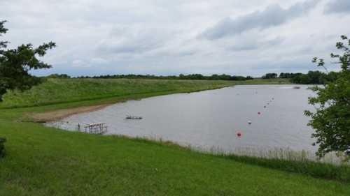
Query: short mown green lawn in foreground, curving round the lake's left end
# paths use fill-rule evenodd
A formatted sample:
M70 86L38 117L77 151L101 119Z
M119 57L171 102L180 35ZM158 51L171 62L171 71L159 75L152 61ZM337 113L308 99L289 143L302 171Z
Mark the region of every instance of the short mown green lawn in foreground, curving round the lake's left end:
M191 90L181 91L204 88L199 83L192 85L195 86ZM18 121L26 112L176 91L155 88L114 98L68 99L66 103L57 99L59 104L42 102L44 106L40 107L0 110L0 137L7 138L6 157L0 159L0 195L350 195L349 183L270 169L232 156L213 156L174 144L127 137L72 133Z

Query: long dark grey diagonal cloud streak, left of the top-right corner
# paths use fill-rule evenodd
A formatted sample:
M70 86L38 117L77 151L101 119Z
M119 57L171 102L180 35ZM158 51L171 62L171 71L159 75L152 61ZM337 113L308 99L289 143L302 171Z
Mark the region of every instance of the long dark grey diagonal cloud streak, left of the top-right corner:
M221 20L214 27L205 30L200 37L210 40L232 36L243 33L250 29L267 29L269 27L279 26L295 17L300 17L314 8L318 0L296 3L287 9L281 8L278 4L267 6L265 10L257 11L247 15L242 15L235 19L230 17Z

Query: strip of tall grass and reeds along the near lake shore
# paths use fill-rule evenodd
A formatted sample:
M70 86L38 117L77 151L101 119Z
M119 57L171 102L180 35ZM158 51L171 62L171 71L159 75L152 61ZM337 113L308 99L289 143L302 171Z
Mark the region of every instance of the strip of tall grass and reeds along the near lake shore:
M333 179L337 181L350 182L350 162L344 162L344 157L330 153L319 159L314 153L308 151L293 151L290 149L255 149L237 148L235 151L224 151L218 146L203 148L202 146L181 146L176 142L162 139L162 137L126 137L115 135L114 137L130 138L142 142L150 142L160 145L177 146L181 149L188 149L204 153L214 157L228 158L240 163L258 165L281 171L306 174L321 179Z

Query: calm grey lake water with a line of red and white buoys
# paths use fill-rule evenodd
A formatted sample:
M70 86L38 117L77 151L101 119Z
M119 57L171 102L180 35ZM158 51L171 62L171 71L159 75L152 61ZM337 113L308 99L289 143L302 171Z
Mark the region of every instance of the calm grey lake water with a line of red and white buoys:
M283 148L314 152L313 130L303 114L313 110L307 98L314 93L308 86L293 86L242 85L130 100L47 125L76 130L78 123L106 123L107 134L161 138L204 150ZM143 119L125 119L127 115Z

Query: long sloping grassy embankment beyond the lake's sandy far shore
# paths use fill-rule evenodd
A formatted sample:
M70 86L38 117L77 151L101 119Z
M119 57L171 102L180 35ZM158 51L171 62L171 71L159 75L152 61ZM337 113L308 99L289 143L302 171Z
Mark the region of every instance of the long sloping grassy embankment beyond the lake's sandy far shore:
M0 107L28 107L151 93L184 93L232 86L229 81L48 79L29 91L10 91Z

